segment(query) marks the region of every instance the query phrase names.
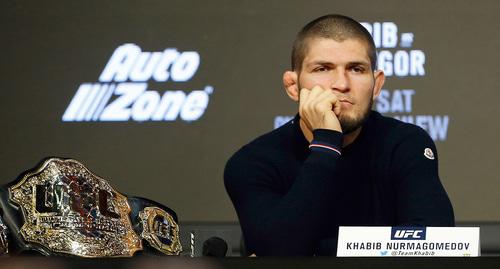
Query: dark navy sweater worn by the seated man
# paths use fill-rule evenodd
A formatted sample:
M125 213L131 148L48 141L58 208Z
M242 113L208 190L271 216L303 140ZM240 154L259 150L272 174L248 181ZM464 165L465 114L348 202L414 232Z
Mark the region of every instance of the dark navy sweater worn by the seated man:
M341 148L340 132L313 136ZM224 183L249 253L335 255L338 226L454 226L423 129L372 111L341 155L308 146L296 116L227 162Z

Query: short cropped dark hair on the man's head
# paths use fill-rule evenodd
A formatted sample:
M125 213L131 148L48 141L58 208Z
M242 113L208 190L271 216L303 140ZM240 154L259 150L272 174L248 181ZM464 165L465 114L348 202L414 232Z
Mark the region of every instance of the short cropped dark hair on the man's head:
M377 63L377 51L375 43L368 30L356 20L338 14L329 14L319 17L302 28L293 42L292 70L300 71L304 61L308 42L313 38L329 38L337 42L346 39L359 39L367 46L368 57L371 68L375 70Z

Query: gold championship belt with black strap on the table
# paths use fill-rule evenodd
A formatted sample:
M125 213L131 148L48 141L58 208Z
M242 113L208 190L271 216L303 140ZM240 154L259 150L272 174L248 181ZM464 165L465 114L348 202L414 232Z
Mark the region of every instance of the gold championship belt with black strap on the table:
M14 254L95 258L181 251L173 210L148 199L127 198L73 159L43 161L0 190L0 207L4 230L9 230L4 245ZM0 225L0 240L1 231Z

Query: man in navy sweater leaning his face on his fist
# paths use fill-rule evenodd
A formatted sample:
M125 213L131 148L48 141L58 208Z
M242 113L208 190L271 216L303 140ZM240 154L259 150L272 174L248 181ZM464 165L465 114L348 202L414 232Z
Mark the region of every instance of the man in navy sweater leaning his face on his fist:
M298 33L283 83L299 114L224 173L249 253L335 255L340 225L454 225L432 139L371 111L385 80L375 66L372 38L351 18Z

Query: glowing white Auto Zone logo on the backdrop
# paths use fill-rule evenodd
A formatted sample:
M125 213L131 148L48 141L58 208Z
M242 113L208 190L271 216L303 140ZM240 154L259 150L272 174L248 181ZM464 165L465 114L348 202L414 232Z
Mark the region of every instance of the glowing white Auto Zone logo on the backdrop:
M199 65L196 51L146 52L135 44L121 45L99 82L80 85L62 121L196 121L205 113L212 86L159 92L148 89L148 82L187 82Z

